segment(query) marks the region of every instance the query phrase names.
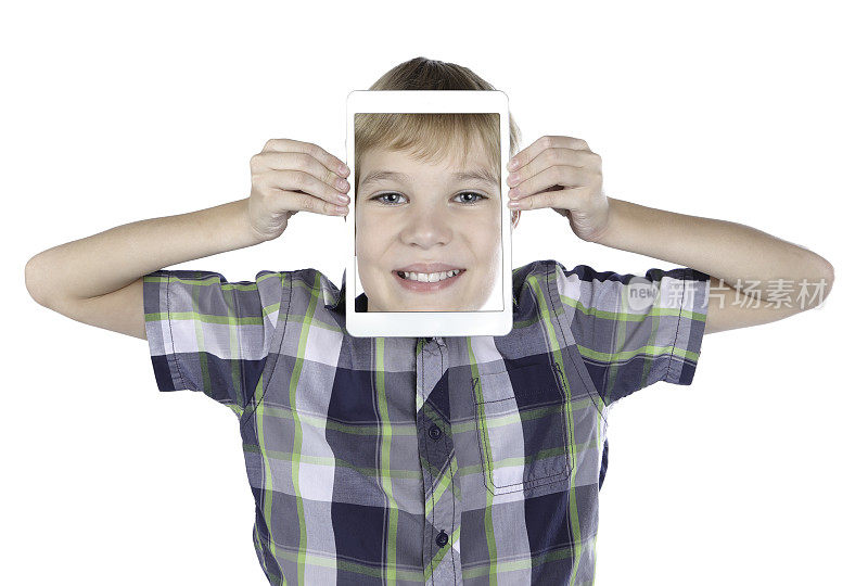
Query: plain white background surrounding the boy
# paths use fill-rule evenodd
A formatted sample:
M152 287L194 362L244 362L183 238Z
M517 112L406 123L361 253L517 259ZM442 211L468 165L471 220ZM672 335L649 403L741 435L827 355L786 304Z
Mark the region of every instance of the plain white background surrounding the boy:
M3 11L3 583L266 583L232 412L158 393L143 340L37 305L24 266L114 226L246 196L269 138L343 158L346 94L418 55L507 92L522 148L587 140L608 195L742 222L835 267L820 309L709 335L691 386L659 383L614 407L597 584L865 579L856 2L232 5ZM340 285L330 243L344 227L302 214L276 241L171 268L253 280L315 267ZM525 213L513 266L545 258L678 266Z

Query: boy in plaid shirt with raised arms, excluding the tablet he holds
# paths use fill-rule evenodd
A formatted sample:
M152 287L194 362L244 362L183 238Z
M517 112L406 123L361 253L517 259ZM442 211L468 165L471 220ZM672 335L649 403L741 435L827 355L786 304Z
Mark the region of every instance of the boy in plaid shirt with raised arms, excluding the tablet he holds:
M371 89L429 88L493 89L422 58ZM270 584L592 584L609 407L658 381L690 384L705 333L805 309L736 305L728 283L758 279L763 296L773 279L804 278L828 292L833 270L741 225L605 198L579 139L542 137L513 158L514 208L554 207L583 240L694 268L637 281L538 260L513 270L508 335L433 339L348 336L345 280L339 291L315 269L255 283L154 270L277 238L298 209L346 213L336 157L271 140L252 161L250 199L46 251L28 263L28 290L146 339L161 391L200 391L235 412ZM141 257L124 257L130 242ZM73 270L98 252L103 275ZM40 286L64 265L86 284ZM132 283L117 289L118 275ZM722 304L706 303L712 279ZM71 301L94 283L115 286Z

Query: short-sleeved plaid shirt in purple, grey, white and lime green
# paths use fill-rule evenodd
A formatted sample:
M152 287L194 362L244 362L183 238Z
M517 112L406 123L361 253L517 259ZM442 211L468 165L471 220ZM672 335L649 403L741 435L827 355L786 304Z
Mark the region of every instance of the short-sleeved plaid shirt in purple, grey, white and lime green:
M239 418L270 584L591 585L607 409L690 384L707 313L705 273L631 277L514 269L505 336L353 337L315 269L157 270L144 313L159 391Z

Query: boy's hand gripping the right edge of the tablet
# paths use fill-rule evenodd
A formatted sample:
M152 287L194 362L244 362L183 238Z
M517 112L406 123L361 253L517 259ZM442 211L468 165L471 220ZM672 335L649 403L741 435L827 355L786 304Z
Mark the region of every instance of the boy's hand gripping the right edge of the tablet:
M551 207L570 219L573 232L588 242L609 222L609 198L603 195L600 155L572 137L545 136L520 151L507 166L509 207Z

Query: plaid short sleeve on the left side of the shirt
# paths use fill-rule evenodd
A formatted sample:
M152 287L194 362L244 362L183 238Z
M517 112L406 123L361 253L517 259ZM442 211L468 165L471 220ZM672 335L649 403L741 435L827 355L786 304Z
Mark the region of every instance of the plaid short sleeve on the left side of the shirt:
M157 270L143 281L157 388L204 393L241 417L275 336L283 273L227 282L218 272Z

